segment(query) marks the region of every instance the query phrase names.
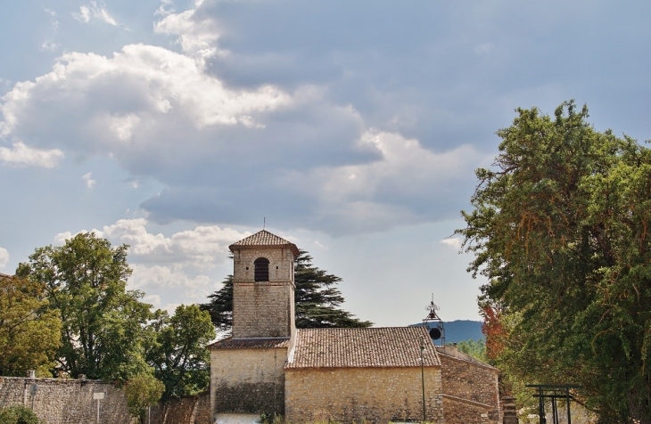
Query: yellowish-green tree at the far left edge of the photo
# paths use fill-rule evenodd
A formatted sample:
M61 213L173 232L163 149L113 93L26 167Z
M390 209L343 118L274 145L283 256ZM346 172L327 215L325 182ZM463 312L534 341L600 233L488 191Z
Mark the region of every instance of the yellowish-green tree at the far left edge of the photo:
M51 377L62 324L58 312L47 309L45 286L0 275L0 292L0 375L37 370Z

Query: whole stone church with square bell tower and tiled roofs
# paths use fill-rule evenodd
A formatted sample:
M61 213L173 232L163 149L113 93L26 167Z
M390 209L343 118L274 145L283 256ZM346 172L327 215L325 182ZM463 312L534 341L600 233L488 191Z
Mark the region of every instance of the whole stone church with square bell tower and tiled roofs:
M210 345L214 422L501 422L497 369L435 347L424 327L296 329L296 246L263 230L229 248L233 333Z

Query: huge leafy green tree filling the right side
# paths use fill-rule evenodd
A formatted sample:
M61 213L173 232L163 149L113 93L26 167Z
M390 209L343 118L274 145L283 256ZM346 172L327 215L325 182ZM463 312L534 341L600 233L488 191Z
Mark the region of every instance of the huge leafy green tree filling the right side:
M517 114L457 230L501 322L491 355L512 379L581 384L601 422L647 424L651 151L574 102Z

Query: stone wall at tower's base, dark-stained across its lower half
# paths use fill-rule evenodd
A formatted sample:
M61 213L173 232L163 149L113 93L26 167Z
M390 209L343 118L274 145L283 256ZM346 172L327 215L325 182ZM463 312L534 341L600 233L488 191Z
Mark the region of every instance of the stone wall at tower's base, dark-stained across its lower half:
M210 411L284 414L287 349L210 352Z

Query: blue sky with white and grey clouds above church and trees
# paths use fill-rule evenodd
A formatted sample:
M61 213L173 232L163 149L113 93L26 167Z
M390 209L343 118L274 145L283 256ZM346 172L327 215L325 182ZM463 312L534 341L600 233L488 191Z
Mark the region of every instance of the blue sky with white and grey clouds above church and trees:
M0 3L0 273L95 231L173 310L263 228L376 326L479 320L454 231L518 107L651 138L651 3Z

